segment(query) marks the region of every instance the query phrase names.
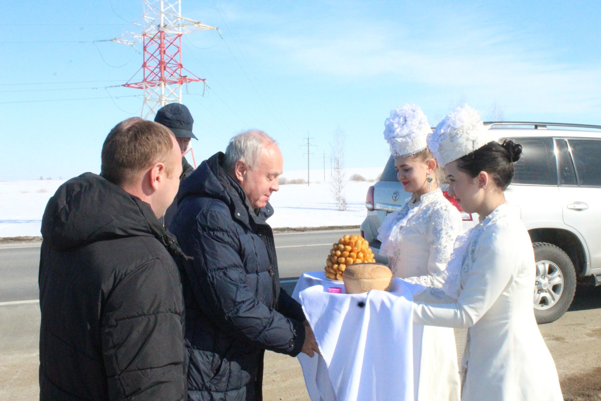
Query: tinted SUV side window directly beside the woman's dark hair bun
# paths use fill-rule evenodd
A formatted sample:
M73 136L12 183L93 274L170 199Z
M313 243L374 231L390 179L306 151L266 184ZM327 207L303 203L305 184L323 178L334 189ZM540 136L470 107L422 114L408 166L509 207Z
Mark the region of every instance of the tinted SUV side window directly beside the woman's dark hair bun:
M511 183L557 185L557 164L552 138L504 138L522 145L522 157L514 165ZM502 142L501 139L500 142Z

